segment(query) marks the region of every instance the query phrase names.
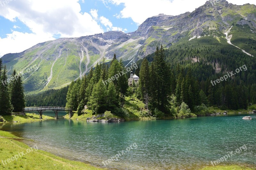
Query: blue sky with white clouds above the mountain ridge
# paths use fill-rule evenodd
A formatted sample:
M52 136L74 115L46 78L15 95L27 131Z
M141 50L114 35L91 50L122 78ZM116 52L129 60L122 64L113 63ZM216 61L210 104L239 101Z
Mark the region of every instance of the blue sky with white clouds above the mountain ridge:
M0 0L0 57L37 43L107 31L133 32L160 13L192 12L206 0ZM255 0L228 0L243 5Z

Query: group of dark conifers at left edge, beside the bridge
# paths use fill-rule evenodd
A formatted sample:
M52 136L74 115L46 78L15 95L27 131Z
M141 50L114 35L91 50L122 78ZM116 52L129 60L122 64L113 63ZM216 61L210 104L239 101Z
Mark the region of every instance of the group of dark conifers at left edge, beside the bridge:
M11 78L7 78L6 65L0 58L0 114L10 115L11 112L21 112L25 107L24 87L22 77L14 70Z

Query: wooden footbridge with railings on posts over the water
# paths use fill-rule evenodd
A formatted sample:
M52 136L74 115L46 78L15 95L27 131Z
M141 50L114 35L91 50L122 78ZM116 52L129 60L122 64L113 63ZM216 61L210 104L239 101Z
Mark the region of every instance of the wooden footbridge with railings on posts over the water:
M42 114L46 110L52 110L55 113L55 119L58 118L58 112L60 111L68 111L69 112L69 118L71 118L73 112L71 108L65 108L65 107L51 107L51 106L45 106L45 107L26 107L22 109L23 112L30 112L30 111L37 111L40 115L40 119L42 118Z

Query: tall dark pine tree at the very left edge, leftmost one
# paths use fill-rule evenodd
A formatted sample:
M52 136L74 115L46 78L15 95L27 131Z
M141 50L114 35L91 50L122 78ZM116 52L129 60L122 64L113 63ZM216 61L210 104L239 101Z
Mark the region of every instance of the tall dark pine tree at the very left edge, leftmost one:
M11 104L11 97L8 90L8 84L3 82L7 81L7 71L6 66L4 66L4 70L2 71L1 83L0 83L0 113L3 115L11 115L13 110Z

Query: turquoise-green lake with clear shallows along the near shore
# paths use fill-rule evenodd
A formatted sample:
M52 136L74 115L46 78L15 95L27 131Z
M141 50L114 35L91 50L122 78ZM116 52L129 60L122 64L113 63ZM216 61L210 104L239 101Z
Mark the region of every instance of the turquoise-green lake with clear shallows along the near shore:
M220 158L226 159L218 165L256 168L256 115L244 116L119 123L59 119L8 123L2 130L60 157L110 169L195 169L211 161L217 165Z

